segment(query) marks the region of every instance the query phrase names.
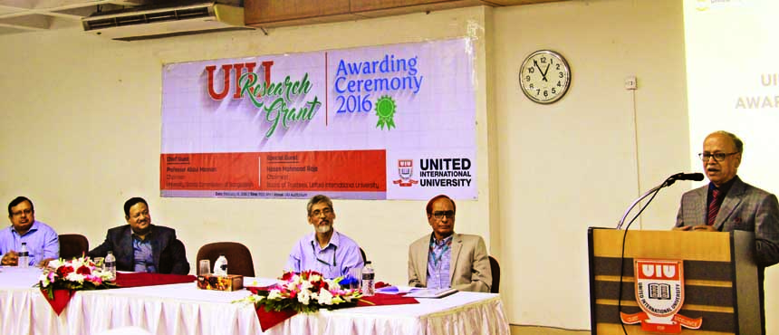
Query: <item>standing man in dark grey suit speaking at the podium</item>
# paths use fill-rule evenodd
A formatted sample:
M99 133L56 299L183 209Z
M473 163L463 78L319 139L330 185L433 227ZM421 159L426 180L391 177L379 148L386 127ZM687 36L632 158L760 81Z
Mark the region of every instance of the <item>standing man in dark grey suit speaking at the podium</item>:
M779 263L779 202L776 196L736 176L744 142L726 131L709 134L703 141L703 168L710 183L682 196L674 230L755 233L755 262L760 282L760 311L765 310L765 267Z

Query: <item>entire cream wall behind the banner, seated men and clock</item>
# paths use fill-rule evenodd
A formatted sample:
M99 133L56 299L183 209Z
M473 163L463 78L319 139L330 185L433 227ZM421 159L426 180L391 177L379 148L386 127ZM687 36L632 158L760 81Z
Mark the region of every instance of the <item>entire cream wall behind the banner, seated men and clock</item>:
M501 262L510 322L589 329L587 227L616 225L640 193L690 166L681 6L474 7L133 43L77 30L3 35L0 199L30 196L38 219L97 245L124 224L123 202L144 196L156 223L177 228L193 269L200 245L230 240L249 246L257 275L277 276L311 231L305 201L159 197L162 64L470 36L479 199L457 204L457 231L484 235ZM551 106L517 84L524 57L545 48L573 73ZM630 74L638 91L623 88ZM664 190L631 229L668 229L689 187ZM408 244L428 233L424 205L336 201L335 225L366 249L380 280L403 283Z

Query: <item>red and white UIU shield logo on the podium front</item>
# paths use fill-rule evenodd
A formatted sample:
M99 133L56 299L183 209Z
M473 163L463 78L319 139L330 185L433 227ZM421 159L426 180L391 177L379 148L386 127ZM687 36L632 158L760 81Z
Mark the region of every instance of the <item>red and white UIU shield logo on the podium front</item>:
M636 302L642 312L626 314L620 311L625 324L641 323L641 330L676 334L681 327L697 330L701 318L690 319L678 314L684 304L684 272L682 261L636 259L633 263L636 279Z

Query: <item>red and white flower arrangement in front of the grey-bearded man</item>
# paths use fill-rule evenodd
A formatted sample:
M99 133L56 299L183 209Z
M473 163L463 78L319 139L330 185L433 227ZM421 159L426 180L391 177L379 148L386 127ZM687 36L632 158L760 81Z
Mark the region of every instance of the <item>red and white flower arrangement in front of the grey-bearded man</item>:
M268 290L252 290L255 294L237 302L252 302L257 308L264 306L265 311L302 312L357 305L362 296L360 290L341 288L341 279L324 279L322 273L315 271L285 272Z

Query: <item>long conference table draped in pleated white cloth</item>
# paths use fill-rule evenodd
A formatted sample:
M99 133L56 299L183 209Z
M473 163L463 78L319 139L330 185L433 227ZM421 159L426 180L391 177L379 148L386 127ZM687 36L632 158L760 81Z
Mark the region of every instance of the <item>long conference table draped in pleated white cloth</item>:
M457 292L418 304L299 313L263 332L251 292L198 290L195 282L76 292L58 316L37 268L0 268L0 334L509 334L500 295ZM270 284L273 279L245 278ZM111 330L111 331L109 331Z

